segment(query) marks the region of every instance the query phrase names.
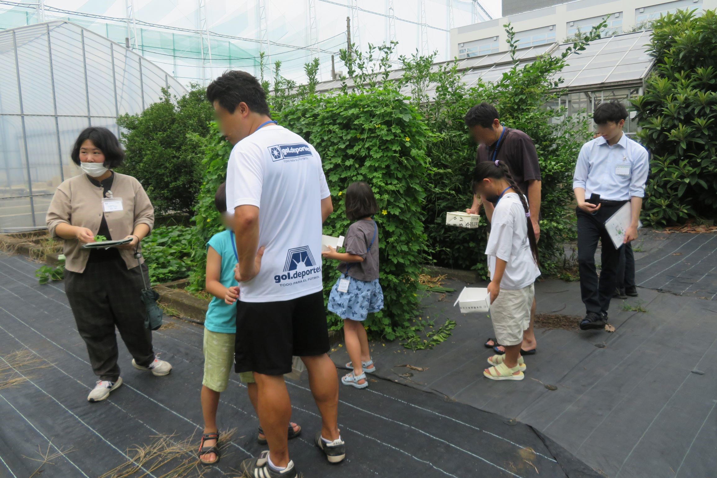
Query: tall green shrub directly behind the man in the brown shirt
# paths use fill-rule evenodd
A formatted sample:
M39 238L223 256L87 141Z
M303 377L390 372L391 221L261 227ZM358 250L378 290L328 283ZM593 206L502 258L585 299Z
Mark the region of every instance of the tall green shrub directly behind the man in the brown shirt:
M581 145L589 139L587 123L579 116L567 117L566 109L550 108L556 102L556 78L567 64L571 52L579 52L592 39L599 38L597 25L560 56L543 54L530 64L516 60L513 29L505 25L511 44L513 68L495 83L480 80L472 87L461 81L455 64L430 71L432 58L402 58L410 75L399 82L411 86L414 101L419 102L434 141L429 142L432 173L427 177L429 189L426 213L427 235L431 254L437 264L462 269L478 269L486 277L485 229L458 229L445 225L445 214L470 207L471 173L475 167L477 145L463 123L467 110L486 101L495 104L500 120L508 128L522 130L531 137L538 152L542 175L541 238L538 242L543 274L556 274L562 263L563 244L574 236L574 215L566 206L573 200L572 176ZM416 85L436 82L435 97L428 102ZM527 193L527 191L524 191ZM483 224L487 224L482 217Z

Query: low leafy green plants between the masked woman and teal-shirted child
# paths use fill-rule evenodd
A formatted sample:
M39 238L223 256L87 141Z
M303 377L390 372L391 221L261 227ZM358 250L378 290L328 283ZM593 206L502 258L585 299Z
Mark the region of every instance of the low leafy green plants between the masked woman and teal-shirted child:
M142 255L152 285L189 276L192 264L188 259L193 241L194 229L184 226L156 227L143 239Z

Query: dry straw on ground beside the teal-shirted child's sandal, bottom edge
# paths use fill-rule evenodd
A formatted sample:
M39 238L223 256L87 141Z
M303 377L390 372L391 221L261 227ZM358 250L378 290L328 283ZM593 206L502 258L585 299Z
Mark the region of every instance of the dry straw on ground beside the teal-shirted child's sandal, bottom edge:
M236 429L222 431L219 436L219 449L226 456L226 449ZM151 444L130 446L125 454L130 458L119 467L110 469L99 478L143 478L148 473L157 478L201 478L212 467L204 467L199 462L196 451L199 439L190 436L177 441L176 435L151 436ZM143 470L144 469L144 470ZM145 471L146 470L146 471Z

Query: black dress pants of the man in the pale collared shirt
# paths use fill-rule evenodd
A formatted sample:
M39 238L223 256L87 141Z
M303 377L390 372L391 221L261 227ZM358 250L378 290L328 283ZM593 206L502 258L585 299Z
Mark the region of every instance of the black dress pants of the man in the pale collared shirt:
M615 292L620 249L615 249L605 221L615 214L624 203L601 204L597 214L592 215L576 209L578 222L578 264L580 270L580 295L586 312L606 313ZM602 256L600 277L595 267L597 242L601 242Z

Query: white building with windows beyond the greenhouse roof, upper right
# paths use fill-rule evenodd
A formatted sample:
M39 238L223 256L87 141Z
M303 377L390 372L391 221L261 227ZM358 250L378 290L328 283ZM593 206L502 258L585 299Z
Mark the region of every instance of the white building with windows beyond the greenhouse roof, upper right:
M525 11L527 8L543 6ZM717 0L503 0L503 11L520 13L451 29L451 56L460 59L508 50L505 28L510 23L519 48L562 43L577 32L587 32L609 15L603 36L649 27L661 14L678 9L717 9Z

